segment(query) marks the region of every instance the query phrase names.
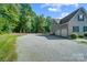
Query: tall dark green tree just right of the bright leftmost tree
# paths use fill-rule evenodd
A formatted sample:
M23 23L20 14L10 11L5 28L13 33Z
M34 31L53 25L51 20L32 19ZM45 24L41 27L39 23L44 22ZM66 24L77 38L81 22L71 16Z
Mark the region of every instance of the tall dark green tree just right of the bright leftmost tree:
M20 19L15 30L20 33L28 33L32 30L32 17L34 15L30 4L21 4ZM32 14L33 13L33 14Z

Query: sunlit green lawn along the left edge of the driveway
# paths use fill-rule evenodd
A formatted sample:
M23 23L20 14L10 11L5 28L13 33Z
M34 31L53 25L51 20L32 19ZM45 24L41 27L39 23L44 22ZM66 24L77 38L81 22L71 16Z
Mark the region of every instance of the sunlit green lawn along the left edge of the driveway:
M0 35L0 62L12 62L17 59L15 53L17 35Z

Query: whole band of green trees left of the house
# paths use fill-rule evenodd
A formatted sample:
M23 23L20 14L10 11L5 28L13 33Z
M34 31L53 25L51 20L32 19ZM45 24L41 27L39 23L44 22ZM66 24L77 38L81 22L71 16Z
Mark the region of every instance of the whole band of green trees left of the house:
M37 15L30 4L0 4L0 33L50 32L50 17Z

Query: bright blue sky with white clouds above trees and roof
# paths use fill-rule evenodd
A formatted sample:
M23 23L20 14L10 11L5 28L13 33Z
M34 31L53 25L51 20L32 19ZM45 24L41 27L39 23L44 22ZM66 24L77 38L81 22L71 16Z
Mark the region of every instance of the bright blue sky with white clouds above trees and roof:
M62 19L80 7L87 11L87 3L31 3L31 7L36 14L55 19Z

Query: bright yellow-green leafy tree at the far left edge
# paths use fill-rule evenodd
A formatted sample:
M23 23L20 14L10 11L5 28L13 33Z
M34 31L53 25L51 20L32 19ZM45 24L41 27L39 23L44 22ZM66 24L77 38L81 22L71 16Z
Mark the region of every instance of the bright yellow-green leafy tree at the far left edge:
M3 18L4 24L2 31L12 32L18 21L18 14L14 4L0 4L0 15Z

